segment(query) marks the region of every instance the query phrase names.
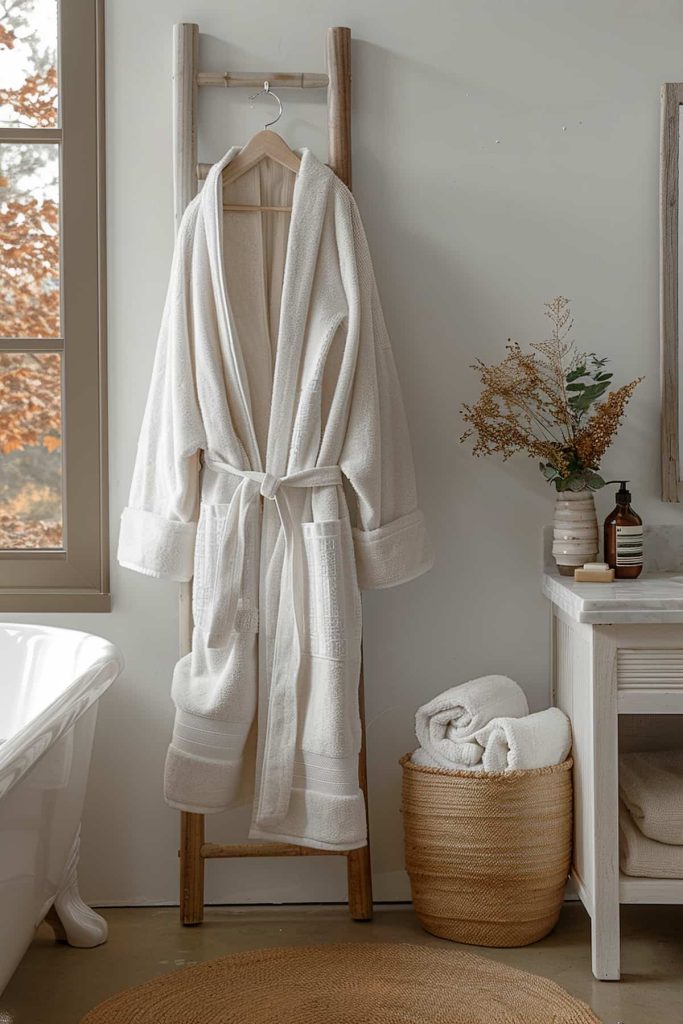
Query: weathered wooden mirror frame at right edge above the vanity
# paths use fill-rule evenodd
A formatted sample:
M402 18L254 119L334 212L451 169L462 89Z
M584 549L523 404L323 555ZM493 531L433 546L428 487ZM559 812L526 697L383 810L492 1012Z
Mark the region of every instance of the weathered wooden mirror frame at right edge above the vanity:
M659 177L659 343L661 366L661 501L677 502L680 469L678 219L679 134L683 83L661 86Z

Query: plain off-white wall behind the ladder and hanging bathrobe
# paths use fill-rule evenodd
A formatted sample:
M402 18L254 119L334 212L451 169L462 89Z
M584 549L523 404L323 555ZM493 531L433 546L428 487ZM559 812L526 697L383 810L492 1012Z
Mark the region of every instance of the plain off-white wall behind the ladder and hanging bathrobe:
M116 0L108 5L113 550L172 247L170 53L200 24L206 70L323 70L328 26L351 27L354 190L374 252L413 431L433 571L365 600L375 888L407 895L398 757L415 708L485 672L548 698L540 532L553 495L535 464L475 461L458 443L468 369L512 335L544 337L544 301L573 300L577 338L623 380L646 375L608 476L649 522L681 521L658 492L659 85L683 77L676 0ZM283 134L326 156L324 98L284 92ZM261 127L263 100L201 99L200 159ZM604 515L609 495L599 501ZM113 566L109 615L49 617L120 644L102 701L82 883L102 902L176 899L177 814L161 796L176 652L174 586ZM238 839L244 816L209 823ZM341 899L343 863L218 862L216 901Z

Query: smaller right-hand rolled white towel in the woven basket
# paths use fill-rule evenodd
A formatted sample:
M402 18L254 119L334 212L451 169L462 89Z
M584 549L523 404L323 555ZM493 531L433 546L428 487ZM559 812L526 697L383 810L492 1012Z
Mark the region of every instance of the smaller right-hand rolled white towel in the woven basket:
M569 719L559 708L526 718L495 718L475 739L483 746L484 771L515 771L561 764L571 750Z

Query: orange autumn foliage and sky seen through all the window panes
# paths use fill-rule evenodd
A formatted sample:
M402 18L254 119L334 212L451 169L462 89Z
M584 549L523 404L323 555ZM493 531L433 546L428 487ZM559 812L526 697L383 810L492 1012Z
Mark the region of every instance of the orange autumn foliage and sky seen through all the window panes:
M46 39L44 25L49 6L0 0L5 127L57 126L56 33ZM54 0L51 6L54 16ZM61 332L58 146L33 142L30 131L26 142L0 145L0 548L58 548L61 356L12 351L8 341Z

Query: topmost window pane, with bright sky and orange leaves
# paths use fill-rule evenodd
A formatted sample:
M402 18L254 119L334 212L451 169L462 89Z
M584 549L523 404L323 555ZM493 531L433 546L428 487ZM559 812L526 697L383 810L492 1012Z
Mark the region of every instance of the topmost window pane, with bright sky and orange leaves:
M0 125L57 125L57 0L0 2Z

